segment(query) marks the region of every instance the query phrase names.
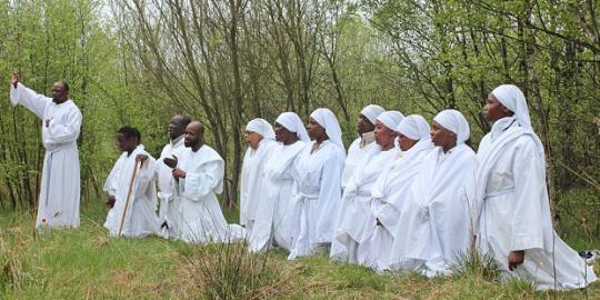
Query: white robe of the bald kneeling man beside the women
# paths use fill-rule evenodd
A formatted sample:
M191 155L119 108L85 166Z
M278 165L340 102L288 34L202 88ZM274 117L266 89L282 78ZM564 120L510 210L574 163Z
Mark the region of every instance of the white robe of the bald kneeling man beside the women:
M243 238L243 229L228 224L217 194L223 191L223 159L208 146L197 152L179 151L178 168L186 172L179 179L181 194L178 233L186 242L233 242Z

